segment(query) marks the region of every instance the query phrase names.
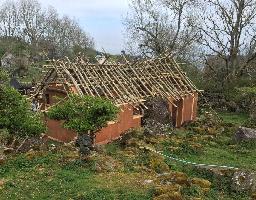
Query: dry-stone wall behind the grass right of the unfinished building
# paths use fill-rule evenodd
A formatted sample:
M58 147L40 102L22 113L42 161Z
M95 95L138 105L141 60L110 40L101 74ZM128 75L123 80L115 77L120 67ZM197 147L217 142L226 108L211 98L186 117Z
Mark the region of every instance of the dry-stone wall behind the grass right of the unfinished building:
M204 97L212 108L217 111L229 110L229 111L238 111L238 110L248 110L249 109L249 100L245 99L243 101L229 101L227 96L219 93L210 93L204 92ZM198 95L198 105L205 104L206 102L202 96Z

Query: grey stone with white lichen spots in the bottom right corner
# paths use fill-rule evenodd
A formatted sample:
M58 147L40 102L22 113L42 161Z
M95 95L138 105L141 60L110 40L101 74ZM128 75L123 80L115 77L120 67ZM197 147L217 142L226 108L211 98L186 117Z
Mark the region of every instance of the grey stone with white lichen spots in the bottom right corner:
M232 179L230 186L236 191L256 191L256 172L247 169L238 169Z

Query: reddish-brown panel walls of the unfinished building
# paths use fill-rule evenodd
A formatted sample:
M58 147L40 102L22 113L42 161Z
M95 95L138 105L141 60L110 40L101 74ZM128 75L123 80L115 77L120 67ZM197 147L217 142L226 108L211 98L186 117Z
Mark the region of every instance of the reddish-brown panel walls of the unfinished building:
M62 86L55 86L52 85L51 87L61 89L63 90ZM68 88L67 88L68 90ZM57 103L58 100L55 100L52 98L52 96L56 95L58 97L64 98L66 97L66 94L55 92L51 90L46 90L45 94L49 94L50 96L50 104ZM194 94L196 99L198 97L198 94ZM196 119L196 109L197 109L197 100L192 98L191 96L187 95L189 99L184 98L185 101L180 99L180 101L174 101L172 98L170 100L177 105L177 107L173 106L170 102L169 108L172 113L173 121L176 122L177 127L181 127L183 122L186 120L192 119L193 121ZM40 100L39 103L43 103L41 110L45 109L45 95L43 96L42 100ZM120 105L121 109L124 110L124 112L120 112L119 119L121 120L121 123L113 123L109 124L108 127L103 128L99 133L96 133L97 139L94 140L94 144L97 143L103 143L107 144L108 141L112 138L118 138L122 132L125 130L141 126L141 118L134 118L133 117L133 108L131 105L126 104L128 108L126 109L123 105ZM67 129L61 128L60 121L54 121L54 120L48 120L48 128L51 130L51 133L49 136L52 136L58 140L61 140L63 142L69 142L71 139L73 139L76 136L76 133L73 131L69 131Z

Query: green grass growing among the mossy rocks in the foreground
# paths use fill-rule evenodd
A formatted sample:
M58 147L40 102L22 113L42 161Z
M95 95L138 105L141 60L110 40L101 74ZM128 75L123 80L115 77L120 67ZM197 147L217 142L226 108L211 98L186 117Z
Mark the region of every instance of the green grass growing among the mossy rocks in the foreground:
M200 109L200 108L199 108ZM246 120L246 112L220 112L220 117L224 122L233 122L242 125ZM235 127L234 127L235 128ZM162 146L153 145L157 151L168 156L199 164L222 165L238 168L256 170L256 142L237 143L236 148L229 147L233 144L233 130L224 131L222 136L214 136L207 141L197 142L202 146L202 153L191 148L183 142L175 143L170 141L162 142ZM183 140L190 138L190 134L195 134L191 129L173 130L179 137L185 136ZM220 140L222 142L220 142ZM210 142L216 142L211 146ZM50 144L50 142L49 142ZM170 151L169 146L183 147L183 151ZM148 161L155 154L139 151L134 157L125 157L122 154L114 154L115 151L123 151L125 146L115 142L105 146L108 156L124 163L123 173L118 172L93 172L94 163L86 164L82 161L71 166L62 165L59 153L48 153L44 158L36 158L36 162L31 163L23 158L10 162L13 167L3 172L0 167L0 180L12 179L3 185L0 190L1 199L151 199L156 186L141 184L131 176L125 174L137 173L134 166L147 166ZM201 195L192 185L190 189L181 190L182 194L201 197L202 199L250 199L246 192L235 193L229 186L231 177L213 179L208 174L194 171L194 165L165 158L165 163L172 170L186 173L190 179L197 177L207 179L212 182L212 189L209 194ZM21 167L17 167L21 166ZM157 168L158 173L162 173ZM129 178L130 177L130 178ZM0 181L1 183L1 181Z

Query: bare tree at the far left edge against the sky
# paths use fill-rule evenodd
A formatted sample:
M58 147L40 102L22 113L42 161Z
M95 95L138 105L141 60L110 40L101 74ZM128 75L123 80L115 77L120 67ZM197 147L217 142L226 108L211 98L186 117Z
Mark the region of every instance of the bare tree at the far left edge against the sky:
M0 6L0 36L5 39L5 47L11 48L11 43L18 31L18 10L16 2L7 0Z

